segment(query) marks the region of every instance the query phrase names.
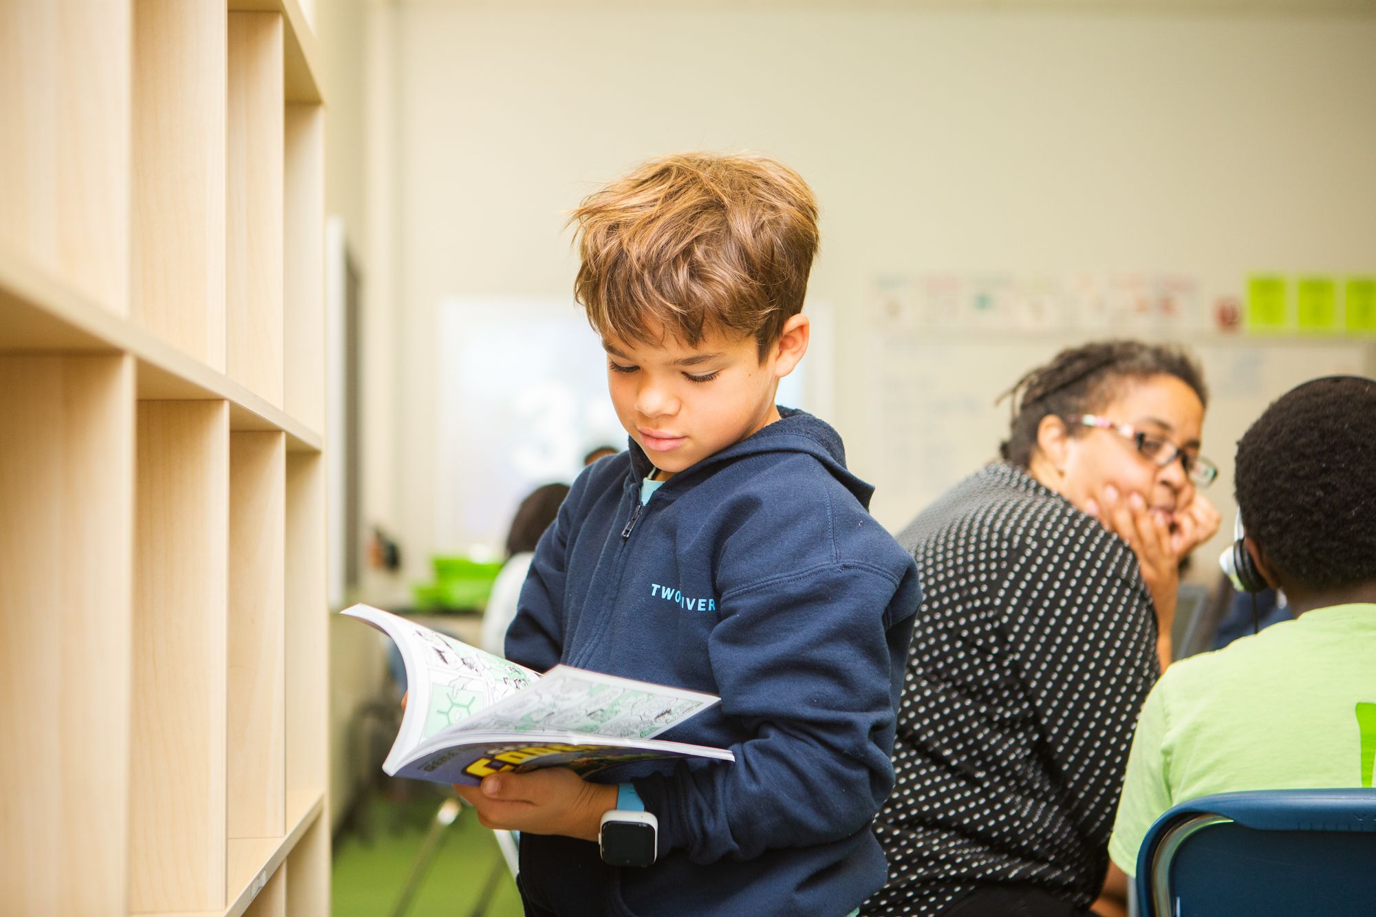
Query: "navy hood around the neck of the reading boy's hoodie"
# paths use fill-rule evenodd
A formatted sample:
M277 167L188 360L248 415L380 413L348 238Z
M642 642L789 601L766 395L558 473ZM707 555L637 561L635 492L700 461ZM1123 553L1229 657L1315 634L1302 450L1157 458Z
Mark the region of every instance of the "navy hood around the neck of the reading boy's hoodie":
M655 464L633 436L627 436L626 439L630 452L630 481L638 487L640 482L655 471ZM860 501L861 507L866 509L870 508L874 487L846 468L846 447L841 442L841 435L832 430L831 424L813 417L805 410L782 406L779 408L779 420L746 436L736 445L728 446L698 464L684 468L663 483L656 492L655 498L673 498L676 493L691 487L722 465L739 461L747 456L788 452L804 453L816 458L831 472L831 476L841 482Z

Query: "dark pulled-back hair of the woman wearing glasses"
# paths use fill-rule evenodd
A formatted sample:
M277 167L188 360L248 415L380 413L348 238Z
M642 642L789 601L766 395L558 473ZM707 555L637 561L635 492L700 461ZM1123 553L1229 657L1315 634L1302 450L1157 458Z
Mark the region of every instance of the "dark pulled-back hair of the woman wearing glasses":
M999 453L1004 461L1026 468L1043 417L1094 413L1123 391L1124 381L1152 376L1175 376L1194 390L1200 403L1208 405L1204 373L1179 347L1102 340L1062 350L999 395L998 401L1010 398L1013 408L1009 438L999 443Z

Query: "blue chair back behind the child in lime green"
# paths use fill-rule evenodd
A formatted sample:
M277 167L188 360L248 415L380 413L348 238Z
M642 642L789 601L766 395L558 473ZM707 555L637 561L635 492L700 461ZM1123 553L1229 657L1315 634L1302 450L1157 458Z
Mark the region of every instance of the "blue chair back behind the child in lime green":
M1137 855L1142 917L1376 914L1376 789L1181 803Z

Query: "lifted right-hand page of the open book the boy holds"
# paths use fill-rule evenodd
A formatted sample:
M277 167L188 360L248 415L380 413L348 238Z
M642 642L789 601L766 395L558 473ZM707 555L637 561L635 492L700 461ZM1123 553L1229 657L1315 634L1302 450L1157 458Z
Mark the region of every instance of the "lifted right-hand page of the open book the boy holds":
M717 701L711 694L556 665L530 688L465 720L455 731L563 731L647 739Z

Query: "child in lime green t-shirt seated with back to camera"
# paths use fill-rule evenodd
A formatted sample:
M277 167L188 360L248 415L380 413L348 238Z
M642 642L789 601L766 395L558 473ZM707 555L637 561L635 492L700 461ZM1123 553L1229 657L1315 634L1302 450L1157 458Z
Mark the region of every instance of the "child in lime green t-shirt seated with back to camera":
M1372 785L1376 381L1318 379L1281 397L1237 443L1234 478L1243 547L1296 620L1182 660L1152 688L1109 840L1128 876L1176 803Z

